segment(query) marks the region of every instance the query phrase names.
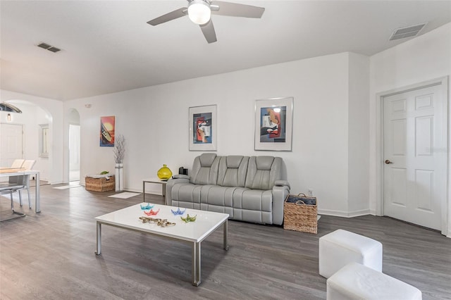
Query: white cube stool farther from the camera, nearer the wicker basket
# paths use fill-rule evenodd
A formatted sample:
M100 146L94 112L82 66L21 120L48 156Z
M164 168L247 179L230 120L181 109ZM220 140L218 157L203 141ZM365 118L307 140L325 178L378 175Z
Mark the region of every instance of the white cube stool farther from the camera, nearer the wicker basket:
M341 229L319 238L319 275L328 278L352 262L382 272L381 242Z

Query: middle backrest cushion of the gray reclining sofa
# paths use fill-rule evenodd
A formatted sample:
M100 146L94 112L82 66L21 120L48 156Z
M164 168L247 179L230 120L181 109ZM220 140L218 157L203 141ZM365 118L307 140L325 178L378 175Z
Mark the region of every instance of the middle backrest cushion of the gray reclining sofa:
M222 156L219 161L218 185L244 187L249 156Z

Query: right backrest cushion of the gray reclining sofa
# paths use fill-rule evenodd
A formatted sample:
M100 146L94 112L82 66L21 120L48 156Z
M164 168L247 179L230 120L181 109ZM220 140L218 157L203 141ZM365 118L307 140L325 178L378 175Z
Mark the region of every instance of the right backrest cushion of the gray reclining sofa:
M272 189L274 182L282 177L282 158L252 156L249 158L246 185L249 189Z

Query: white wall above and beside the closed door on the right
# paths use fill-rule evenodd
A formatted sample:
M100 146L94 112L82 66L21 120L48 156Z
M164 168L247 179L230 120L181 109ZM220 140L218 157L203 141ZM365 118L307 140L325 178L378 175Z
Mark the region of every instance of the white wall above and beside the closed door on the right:
M451 23L370 58L370 209L376 213L378 191L378 99L376 94L451 74ZM448 99L451 99L448 95ZM448 118L450 113L448 113ZM448 129L448 135L451 128ZM450 137L448 136L448 142ZM448 152L448 156L449 156ZM448 158L448 163L451 159ZM448 170L451 170L451 165ZM451 178L448 175L448 178ZM449 180L448 180L449 183ZM451 188L448 187L451 193ZM448 194L447 235L451 235L451 194Z

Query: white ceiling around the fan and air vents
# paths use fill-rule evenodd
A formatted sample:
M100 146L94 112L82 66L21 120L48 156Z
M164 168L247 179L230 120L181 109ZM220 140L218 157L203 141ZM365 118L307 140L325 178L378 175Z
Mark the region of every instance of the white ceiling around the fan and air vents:
M398 27L428 22L421 35L451 22L451 1L234 2L266 11L213 15L218 42L207 44L187 17L146 23L185 0L1 0L0 87L77 99L343 51L371 56L411 39L389 42Z

